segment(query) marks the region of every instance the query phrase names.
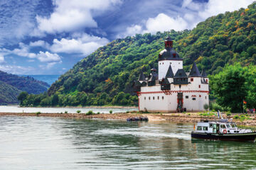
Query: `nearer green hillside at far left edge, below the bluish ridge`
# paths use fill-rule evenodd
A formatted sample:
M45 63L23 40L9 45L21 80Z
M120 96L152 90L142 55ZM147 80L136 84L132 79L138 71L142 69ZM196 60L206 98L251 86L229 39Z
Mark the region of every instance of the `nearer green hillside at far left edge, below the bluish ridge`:
M16 87L0 81L0 105L18 104L20 92Z

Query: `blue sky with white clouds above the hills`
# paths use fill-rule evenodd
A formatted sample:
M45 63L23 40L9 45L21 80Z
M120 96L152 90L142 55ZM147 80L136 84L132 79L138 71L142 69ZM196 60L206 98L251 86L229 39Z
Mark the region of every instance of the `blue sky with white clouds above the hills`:
M253 1L0 0L0 70L63 74L117 38L193 29Z

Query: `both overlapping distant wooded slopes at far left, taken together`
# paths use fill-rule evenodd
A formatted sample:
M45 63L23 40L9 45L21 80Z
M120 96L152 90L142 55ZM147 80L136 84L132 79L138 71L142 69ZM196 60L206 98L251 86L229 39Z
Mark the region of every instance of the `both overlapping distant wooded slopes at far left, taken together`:
M18 104L17 96L21 91L41 94L47 91L49 86L46 82L31 77L19 77L0 71L0 105Z

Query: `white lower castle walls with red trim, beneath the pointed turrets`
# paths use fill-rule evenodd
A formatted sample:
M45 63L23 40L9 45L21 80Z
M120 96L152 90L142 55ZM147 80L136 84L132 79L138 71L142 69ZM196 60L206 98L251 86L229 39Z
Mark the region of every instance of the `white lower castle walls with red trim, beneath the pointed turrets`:
M205 111L203 106L209 104L208 91L208 84L201 84L201 77L193 77L191 84L183 84L181 88L178 84L171 84L171 94L161 91L159 84L144 86L139 94L139 111L176 112L178 92L183 93L183 108L187 111Z

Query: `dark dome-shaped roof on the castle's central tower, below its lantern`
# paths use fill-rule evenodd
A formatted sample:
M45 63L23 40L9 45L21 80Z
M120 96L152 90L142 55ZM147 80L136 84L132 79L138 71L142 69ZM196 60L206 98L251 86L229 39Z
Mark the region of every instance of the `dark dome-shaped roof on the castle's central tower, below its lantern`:
M159 61L161 60L183 60L179 57L178 52L174 48L166 47L159 53Z

